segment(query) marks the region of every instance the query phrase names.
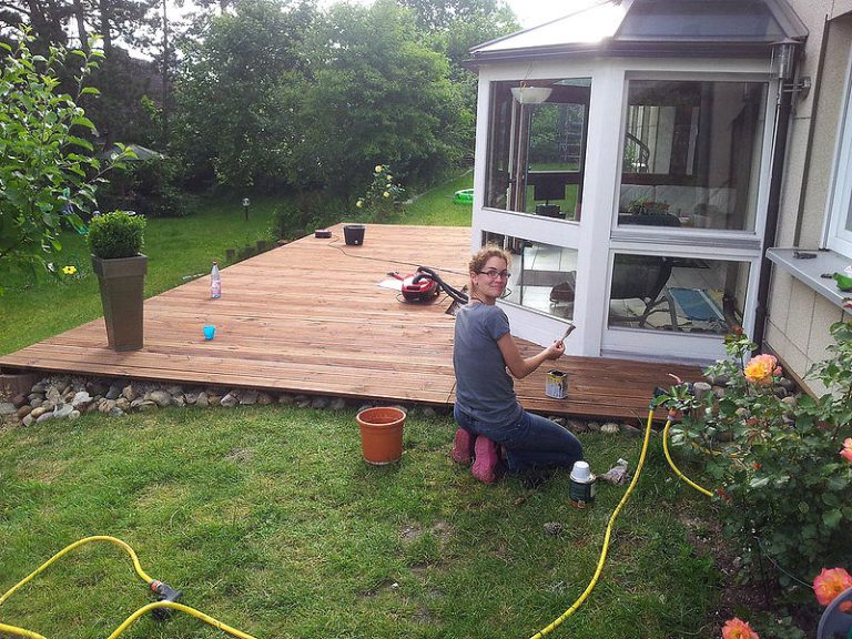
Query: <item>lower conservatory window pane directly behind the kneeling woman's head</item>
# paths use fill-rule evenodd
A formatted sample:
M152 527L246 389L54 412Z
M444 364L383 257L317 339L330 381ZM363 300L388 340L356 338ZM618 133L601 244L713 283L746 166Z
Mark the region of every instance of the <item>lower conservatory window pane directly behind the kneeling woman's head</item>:
M577 251L484 233L483 245L497 244L511 253L511 280L504 300L564 320L574 318L577 283Z

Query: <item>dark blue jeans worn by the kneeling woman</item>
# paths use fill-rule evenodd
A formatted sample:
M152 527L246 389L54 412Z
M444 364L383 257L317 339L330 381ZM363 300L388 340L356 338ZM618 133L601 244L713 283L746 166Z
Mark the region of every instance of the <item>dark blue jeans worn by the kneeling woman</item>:
M571 433L539 415L524 410L510 426L494 426L477 422L459 409L453 409L456 423L473 435L487 437L506 449L506 466L510 473L561 466L570 468L582 459L582 444Z

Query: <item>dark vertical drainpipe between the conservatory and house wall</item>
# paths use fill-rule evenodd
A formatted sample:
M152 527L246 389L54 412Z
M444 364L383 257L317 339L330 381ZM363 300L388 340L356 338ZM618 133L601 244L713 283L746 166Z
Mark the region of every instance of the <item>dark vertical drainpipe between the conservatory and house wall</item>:
M760 348L767 333L767 316L769 303L769 285L772 282L772 262L767 257L767 250L775 244L778 221L781 207L781 187L784 178L784 158L787 156L787 140L790 132L790 116L793 95L795 94L793 78L795 78L795 60L800 42L785 40L775 44L773 58L778 58L779 83L778 108L775 109L774 144L772 148L772 172L769 182L769 200L767 202L767 224L763 230L763 247L758 281L758 303L754 311L754 335L752 339ZM785 57L790 57L787 58ZM787 63L784 63L787 62Z

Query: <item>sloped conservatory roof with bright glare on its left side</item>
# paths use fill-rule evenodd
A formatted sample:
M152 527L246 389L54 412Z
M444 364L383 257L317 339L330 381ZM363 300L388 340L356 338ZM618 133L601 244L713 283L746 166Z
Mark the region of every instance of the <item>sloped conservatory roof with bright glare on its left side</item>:
M787 0L604 0L474 47L470 63L568 52L763 55L773 44L807 37Z

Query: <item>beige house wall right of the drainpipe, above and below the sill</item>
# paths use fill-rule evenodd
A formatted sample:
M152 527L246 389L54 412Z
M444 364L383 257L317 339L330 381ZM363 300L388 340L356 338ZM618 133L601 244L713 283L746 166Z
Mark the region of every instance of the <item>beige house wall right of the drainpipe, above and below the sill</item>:
M799 77L810 77L813 87L805 99L794 98L775 245L816 248L824 243L852 43L852 0L789 1L810 31ZM772 272L768 311L764 345L799 378L828 356L829 326L850 318L778 266ZM824 390L818 381L807 382L813 392Z

